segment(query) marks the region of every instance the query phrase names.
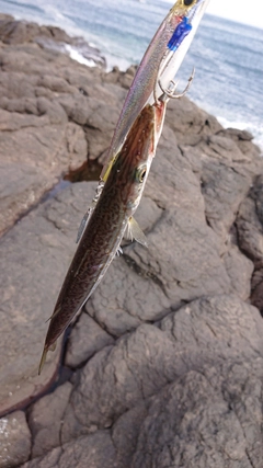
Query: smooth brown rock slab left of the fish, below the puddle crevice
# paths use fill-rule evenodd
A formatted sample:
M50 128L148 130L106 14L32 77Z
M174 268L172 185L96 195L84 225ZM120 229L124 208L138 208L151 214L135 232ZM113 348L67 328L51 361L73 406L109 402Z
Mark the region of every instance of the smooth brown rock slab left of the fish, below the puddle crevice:
M37 375L46 320L76 248L78 225L87 199L92 199L93 184L77 184L67 193L32 210L1 242L1 414L43 392L57 370L60 346ZM71 193L79 193L79 205Z

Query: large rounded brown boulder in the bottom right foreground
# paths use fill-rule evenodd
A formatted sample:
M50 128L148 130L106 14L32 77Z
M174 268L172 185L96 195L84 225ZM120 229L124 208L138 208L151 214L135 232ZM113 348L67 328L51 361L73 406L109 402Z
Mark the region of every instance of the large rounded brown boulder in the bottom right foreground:
M181 457L187 466L191 444L199 466L209 453L222 466L231 454L245 460L249 453L260 467L261 397L254 385L262 378L262 327L258 310L235 296L193 301L164 318L160 329L140 326L85 365L65 415L64 440L123 423L124 434L113 430L114 446L122 454L125 446L134 449L119 467L133 466L137 457L136 466L150 467L153 459L157 466L170 466L169 457ZM209 424L216 427L213 435ZM198 431L206 434L201 452ZM168 441L172 453L164 455Z

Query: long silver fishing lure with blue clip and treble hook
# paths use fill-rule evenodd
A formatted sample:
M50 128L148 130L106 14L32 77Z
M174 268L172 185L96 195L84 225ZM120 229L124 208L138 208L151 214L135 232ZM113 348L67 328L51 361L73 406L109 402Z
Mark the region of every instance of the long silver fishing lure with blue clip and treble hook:
M106 180L115 156L146 103L153 104L169 89L208 2L209 0L178 0L158 28L125 100L101 173L102 180Z

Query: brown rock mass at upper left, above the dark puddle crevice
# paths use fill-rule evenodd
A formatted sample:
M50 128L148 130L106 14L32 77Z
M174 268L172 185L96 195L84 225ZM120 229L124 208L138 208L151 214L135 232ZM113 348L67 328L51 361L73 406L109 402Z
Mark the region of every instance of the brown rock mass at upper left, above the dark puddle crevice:
M87 78L87 67L41 48L35 39L42 36L70 43L61 30L0 18L0 232L37 204L61 173L87 160L101 133L94 110L100 118L101 102L105 107L116 102L111 84L93 85L100 69L90 69ZM108 145L114 117L117 111L95 157Z

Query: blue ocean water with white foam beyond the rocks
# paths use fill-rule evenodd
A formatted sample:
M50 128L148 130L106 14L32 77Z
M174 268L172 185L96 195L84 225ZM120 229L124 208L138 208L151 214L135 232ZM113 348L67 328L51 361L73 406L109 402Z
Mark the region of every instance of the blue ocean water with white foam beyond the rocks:
M0 12L81 35L108 69L123 70L140 61L170 8L160 0L0 0ZM182 89L193 67L190 99L224 126L250 130L263 149L263 30L206 14L178 73Z

